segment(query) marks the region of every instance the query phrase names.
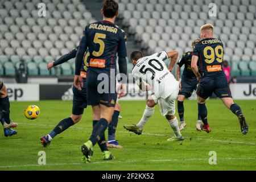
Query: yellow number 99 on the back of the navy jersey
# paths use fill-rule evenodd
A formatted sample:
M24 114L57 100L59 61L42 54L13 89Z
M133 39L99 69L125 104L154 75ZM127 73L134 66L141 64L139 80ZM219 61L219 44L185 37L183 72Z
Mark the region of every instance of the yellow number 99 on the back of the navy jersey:
M208 51L210 51L210 54L208 54ZM218 52L220 51L220 53ZM222 46L217 46L215 49L213 49L210 46L207 46L204 48L204 57L205 62L208 64L213 63L213 61L215 60L215 55L217 56L216 60L218 61L218 63L222 63L223 61L223 47Z

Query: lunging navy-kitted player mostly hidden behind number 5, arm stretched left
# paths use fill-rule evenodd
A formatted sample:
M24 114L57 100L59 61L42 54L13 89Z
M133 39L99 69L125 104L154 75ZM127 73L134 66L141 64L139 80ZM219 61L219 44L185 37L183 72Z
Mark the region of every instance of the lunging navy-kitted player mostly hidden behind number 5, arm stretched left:
M78 47L77 47L78 48ZM56 61L52 61L47 65L48 69L51 69L53 67L56 67L59 64L63 64L67 62L68 60L71 60L72 58L76 57L77 48L73 49L71 52L67 53L66 55L61 56ZM40 140L42 141L42 144L44 147L49 146L51 144L51 140L56 137L57 134L62 133L63 131L67 130L72 125L79 122L82 118L82 114L84 113L84 108L87 107L87 99L86 99L86 72L88 67L88 61L89 61L89 51L87 50L85 52L84 61L82 63L82 67L80 70L80 75L84 80L84 87L82 90L77 90L73 87L73 109L71 117L65 118L61 120L58 125L49 133L48 135L42 137ZM117 103L115 106L115 111L112 117L111 125L109 125L109 144L108 147L113 148L122 148L122 146L119 146L117 141L115 140L115 130L118 123L118 115L121 110L121 107Z

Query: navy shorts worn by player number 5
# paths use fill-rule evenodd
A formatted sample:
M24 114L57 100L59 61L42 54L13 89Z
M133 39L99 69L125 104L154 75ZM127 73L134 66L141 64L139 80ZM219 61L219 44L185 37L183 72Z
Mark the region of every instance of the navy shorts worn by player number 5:
M90 69L87 72L86 75L86 81L87 81L87 103L88 105L105 105L108 107L114 107L115 102L117 101L117 93L115 92L115 79L113 80L114 85L111 86L110 84L110 78L108 78L107 82L109 82L109 85L107 88L104 88L104 84L102 84L102 80L98 80L98 73L94 71L90 71ZM98 87L101 90L98 90ZM105 90L102 92L102 90Z

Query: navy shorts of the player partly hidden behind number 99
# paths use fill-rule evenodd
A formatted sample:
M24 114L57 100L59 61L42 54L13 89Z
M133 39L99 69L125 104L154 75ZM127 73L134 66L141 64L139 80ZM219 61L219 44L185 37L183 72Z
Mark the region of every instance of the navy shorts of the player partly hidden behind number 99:
M183 95L186 98L190 97L193 93L193 90L196 90L196 86L198 84L198 81L196 78L181 78L181 91L179 92L179 95Z

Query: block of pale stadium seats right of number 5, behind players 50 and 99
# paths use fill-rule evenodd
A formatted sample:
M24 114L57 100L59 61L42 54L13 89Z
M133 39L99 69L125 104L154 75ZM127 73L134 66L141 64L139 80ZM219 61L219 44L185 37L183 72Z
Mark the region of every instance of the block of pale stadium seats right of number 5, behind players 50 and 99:
M200 27L214 25L224 42L224 60L233 76L255 75L255 0L118 0L119 20L144 53L176 49L179 55L191 50ZM217 18L209 17L209 3L216 3Z

